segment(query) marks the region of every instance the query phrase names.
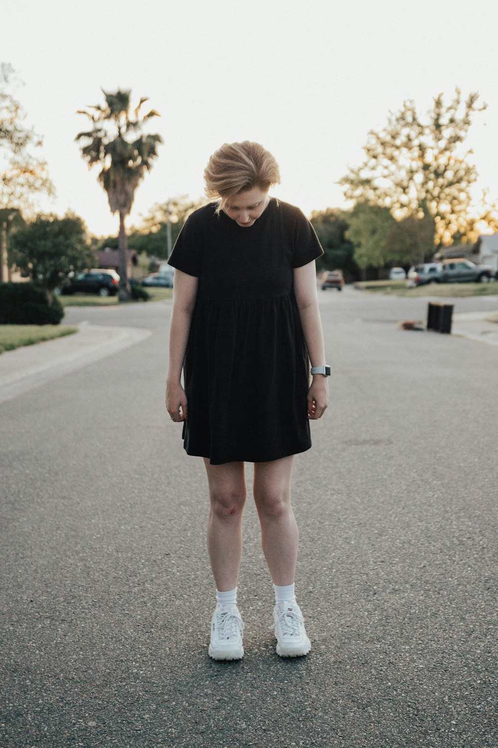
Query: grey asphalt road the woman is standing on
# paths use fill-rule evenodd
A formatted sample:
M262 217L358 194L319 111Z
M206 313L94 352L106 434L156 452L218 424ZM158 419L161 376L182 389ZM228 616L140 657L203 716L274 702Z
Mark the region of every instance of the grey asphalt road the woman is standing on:
M498 746L498 348L400 330L423 299L320 304L332 402L293 482L313 649L275 654L249 497L239 663L207 654L204 468L163 405L170 306L68 310L152 335L0 405L1 748Z

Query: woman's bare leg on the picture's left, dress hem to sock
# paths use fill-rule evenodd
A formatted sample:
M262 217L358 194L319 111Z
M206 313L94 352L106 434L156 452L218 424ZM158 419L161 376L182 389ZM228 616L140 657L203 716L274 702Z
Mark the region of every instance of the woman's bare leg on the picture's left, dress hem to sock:
M219 592L237 586L242 557L242 515L246 503L243 462L210 465L208 473L211 509L208 520L208 553Z

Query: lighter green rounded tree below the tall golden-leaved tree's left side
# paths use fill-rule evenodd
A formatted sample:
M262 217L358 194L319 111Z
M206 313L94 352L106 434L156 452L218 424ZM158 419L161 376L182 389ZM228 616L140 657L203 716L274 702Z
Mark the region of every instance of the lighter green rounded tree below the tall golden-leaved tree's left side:
M352 209L346 238L355 246L355 261L362 270L387 263L387 236L394 224L388 208L357 203Z

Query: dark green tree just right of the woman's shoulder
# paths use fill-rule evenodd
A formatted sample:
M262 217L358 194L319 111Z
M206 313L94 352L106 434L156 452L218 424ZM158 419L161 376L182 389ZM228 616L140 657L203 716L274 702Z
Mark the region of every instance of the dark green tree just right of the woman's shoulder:
M314 210L310 220L325 253L317 260L318 268L340 269L353 277L357 275L358 266L353 257L355 248L352 242L346 239L346 231L349 228L348 213L334 208Z

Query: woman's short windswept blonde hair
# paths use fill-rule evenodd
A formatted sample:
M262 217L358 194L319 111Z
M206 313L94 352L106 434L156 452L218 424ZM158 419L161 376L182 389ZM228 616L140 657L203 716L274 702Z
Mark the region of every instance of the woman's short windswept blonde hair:
M205 193L219 209L229 195L259 187L265 192L280 183L278 164L259 143L225 143L213 153L204 170Z

